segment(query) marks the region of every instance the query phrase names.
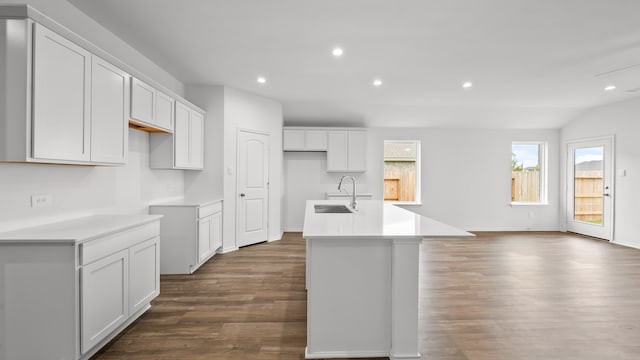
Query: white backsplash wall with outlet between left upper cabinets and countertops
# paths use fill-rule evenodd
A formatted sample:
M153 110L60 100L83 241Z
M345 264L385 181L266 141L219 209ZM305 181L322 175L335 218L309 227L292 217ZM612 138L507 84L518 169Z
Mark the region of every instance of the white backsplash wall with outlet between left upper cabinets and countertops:
M0 163L0 232L94 213L146 213L151 202L181 197L182 171L149 168L149 134L129 130L126 166ZM31 208L31 195L50 207Z

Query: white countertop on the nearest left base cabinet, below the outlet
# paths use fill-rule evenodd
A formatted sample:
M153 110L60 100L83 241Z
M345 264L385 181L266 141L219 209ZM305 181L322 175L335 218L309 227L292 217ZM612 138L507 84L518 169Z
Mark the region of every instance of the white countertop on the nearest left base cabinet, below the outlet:
M0 233L2 243L80 244L160 219L162 215L93 215Z

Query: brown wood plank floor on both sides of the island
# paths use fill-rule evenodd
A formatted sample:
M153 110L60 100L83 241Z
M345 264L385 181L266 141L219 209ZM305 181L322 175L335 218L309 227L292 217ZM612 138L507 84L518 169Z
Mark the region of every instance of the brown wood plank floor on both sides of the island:
M300 233L162 276L96 360L303 359ZM433 360L640 359L640 250L564 233L425 240L420 351Z

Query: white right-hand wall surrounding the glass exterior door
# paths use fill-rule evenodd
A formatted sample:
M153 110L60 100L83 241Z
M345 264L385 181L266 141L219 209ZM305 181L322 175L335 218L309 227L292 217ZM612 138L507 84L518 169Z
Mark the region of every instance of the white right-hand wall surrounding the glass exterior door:
M566 174L566 141L592 137L615 136L615 221L614 241L640 248L637 236L638 214L640 214L640 186L635 177L640 177L640 99L631 99L591 109L566 125L561 132L562 181ZM626 176L620 176L626 170ZM562 214L566 214L566 192ZM564 217L563 217L564 219Z

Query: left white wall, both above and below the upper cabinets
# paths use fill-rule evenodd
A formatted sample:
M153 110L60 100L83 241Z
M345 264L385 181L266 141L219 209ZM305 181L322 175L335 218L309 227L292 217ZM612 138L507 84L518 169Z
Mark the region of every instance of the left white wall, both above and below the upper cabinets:
M0 5L12 3L16 2L0 0ZM145 80L184 94L184 85L175 77L67 1L23 3L123 61L125 70L143 70L140 74ZM129 130L128 156L122 167L0 164L0 231L93 213L145 213L151 202L183 196L182 171L149 168L147 133ZM31 208L34 194L52 195L52 205Z

